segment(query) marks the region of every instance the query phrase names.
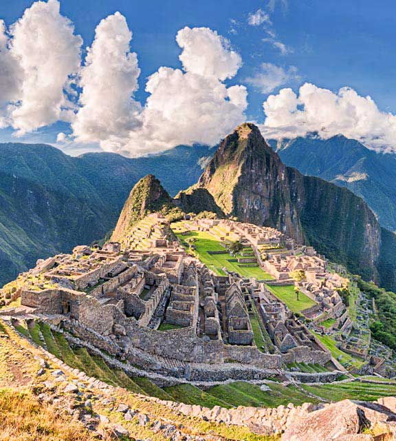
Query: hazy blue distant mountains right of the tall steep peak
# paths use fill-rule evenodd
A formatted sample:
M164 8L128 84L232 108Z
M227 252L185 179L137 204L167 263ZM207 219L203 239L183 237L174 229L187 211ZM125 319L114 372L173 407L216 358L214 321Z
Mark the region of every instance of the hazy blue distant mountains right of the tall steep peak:
M296 138L272 146L282 161L362 196L382 226L396 231L396 155L380 154L342 135Z

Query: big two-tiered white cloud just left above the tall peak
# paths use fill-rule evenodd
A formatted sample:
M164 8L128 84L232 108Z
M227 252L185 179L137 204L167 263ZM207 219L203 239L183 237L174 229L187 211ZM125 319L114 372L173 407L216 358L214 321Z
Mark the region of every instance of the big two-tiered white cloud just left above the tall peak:
M246 88L221 81L241 65L230 43L208 28L184 28L177 43L184 72L162 67L148 78L142 127L113 150L138 156L177 144L214 145L245 120Z

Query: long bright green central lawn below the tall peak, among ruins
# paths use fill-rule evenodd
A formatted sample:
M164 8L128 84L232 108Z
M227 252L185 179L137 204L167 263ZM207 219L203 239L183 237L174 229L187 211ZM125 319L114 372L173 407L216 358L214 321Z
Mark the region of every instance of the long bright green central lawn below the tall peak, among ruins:
M188 234L181 234L175 230L177 238L179 238L182 245L188 247L186 238L195 237L197 242L194 243L197 258L201 260L208 268L212 269L218 276L225 276L223 267L228 271L235 271L244 277L255 277L259 280L270 280L272 276L263 271L259 266L256 267L242 267L236 260L225 252L225 248L221 245L219 240L208 232L188 232ZM209 254L208 252L223 251L224 254ZM231 260L231 261L230 261Z

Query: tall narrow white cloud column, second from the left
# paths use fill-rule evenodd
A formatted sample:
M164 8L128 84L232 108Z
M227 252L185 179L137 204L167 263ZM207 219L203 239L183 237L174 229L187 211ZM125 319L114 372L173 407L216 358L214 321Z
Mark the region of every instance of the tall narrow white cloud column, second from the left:
M80 109L72 123L78 142L100 142L111 149L140 124L133 99L140 69L130 51L132 32L120 12L100 21L81 72Z

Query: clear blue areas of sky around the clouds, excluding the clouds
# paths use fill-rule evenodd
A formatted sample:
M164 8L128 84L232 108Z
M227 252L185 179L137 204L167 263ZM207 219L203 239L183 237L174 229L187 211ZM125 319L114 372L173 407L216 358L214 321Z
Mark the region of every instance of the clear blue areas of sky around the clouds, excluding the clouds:
M0 19L11 25L19 19L28 0L0 2ZM272 3L272 4L271 4ZM262 10L271 24L249 25L249 15ZM242 57L243 65L225 84L245 85L248 90L246 119L262 123L263 101L267 94L254 88L247 78L259 72L261 63L271 63L295 74L279 89L298 87L305 82L337 92L342 86L353 88L362 96L370 95L380 110L396 112L396 3L384 0L381 6L369 0L275 0L268 1L129 1L61 0L61 14L74 23L74 32L83 38L83 48L91 45L96 25L101 19L120 11L133 32L131 50L137 53L140 88L135 99L144 104L148 94L144 86L148 76L160 66L181 68L177 31L184 26L208 27L230 40L232 49ZM287 47L281 54L268 41ZM84 52L83 52L84 58ZM22 141L54 142L56 134L67 132L68 124L56 123L26 134ZM12 139L13 130L0 131L0 139Z

